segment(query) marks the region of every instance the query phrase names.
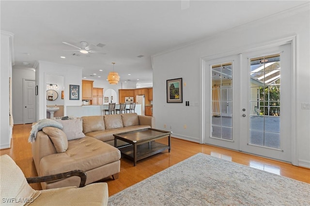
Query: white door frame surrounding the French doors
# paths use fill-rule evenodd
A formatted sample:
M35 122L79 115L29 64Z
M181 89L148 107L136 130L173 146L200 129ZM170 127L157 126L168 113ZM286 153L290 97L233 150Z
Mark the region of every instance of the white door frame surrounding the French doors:
M200 118L201 118L201 125L200 125L200 143L204 144L206 140L205 136L205 125L206 125L206 118L205 117L205 111L208 108L205 108L205 102L209 101L209 97L206 97L205 95L205 90L206 90L206 84L205 84L205 79L209 78L209 76L206 76L206 68L208 65L206 65L207 61L214 60L214 59L219 59L219 58L224 58L228 56L233 56L233 55L238 55L246 52L252 52L264 48L269 48L273 46L279 46L281 44L291 44L291 49L292 49L292 72L291 72L291 78L292 78L292 102L291 102L291 107L292 107L292 164L298 166L298 156L297 156L297 148L296 148L296 35L293 36L288 36L284 37L282 39L270 41L267 43L262 43L262 44L254 44L251 47L245 47L243 49L235 50L235 51L230 51L230 52L223 52L219 53L216 55L211 55L211 56L206 56L200 58L200 91L201 91L201 112L200 112ZM239 55L239 60L241 62L241 55ZM236 114L237 115L237 114Z

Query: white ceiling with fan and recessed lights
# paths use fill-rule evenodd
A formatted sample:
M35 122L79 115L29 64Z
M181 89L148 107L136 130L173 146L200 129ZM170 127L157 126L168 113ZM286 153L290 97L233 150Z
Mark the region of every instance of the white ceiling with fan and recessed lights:
M1 0L0 26L14 33L14 69L30 69L36 60L43 60L81 66L83 77L105 81L113 69L111 62L116 62L121 82L149 84L153 81L152 55L307 2ZM81 41L105 44L93 50L107 54L64 51L75 48L62 42L80 46Z

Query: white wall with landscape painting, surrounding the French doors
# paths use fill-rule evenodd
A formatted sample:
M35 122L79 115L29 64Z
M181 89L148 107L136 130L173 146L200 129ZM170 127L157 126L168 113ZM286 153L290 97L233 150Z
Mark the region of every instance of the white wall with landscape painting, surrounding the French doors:
M298 164L310 167L310 12L309 4L251 24L226 30L211 38L154 55L153 116L158 129L176 137L200 142L200 59L227 52L251 49L267 42L297 35L296 43L296 140ZM166 103L166 80L183 78L183 102ZM185 101L199 106L185 106ZM164 124L167 128L164 128ZM186 124L187 128L183 126ZM169 129L171 126L171 129Z

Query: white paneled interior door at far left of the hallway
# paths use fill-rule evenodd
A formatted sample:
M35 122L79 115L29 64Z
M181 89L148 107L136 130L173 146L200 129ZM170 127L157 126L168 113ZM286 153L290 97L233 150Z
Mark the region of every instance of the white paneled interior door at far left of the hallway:
M35 81L23 79L23 122L24 124L35 122Z

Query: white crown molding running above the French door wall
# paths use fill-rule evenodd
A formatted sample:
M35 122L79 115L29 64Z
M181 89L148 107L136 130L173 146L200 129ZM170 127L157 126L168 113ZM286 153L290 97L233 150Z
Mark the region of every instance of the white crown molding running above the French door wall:
M187 44L182 44L180 46L176 46L176 47L173 47L171 49L167 49L167 50L164 50L164 51L161 51L161 52L158 52L154 55L151 55L151 59L153 59L154 57L156 56L160 56L162 54L165 54L165 53L169 53L171 51L175 51L175 50L178 50L178 49L181 49L181 48L184 48L186 46L189 46L189 45L193 45L193 44L197 44L197 43L200 43L200 42L203 42L203 41L206 41L208 39L212 39L216 36L218 36L219 33L222 33L222 32L227 32L227 31L233 31L235 29L239 29L239 28L242 28L242 27L246 27L250 24L255 24L255 23L258 23L258 22L263 22L263 21L266 21L267 19L270 19L272 18L273 20L277 19L283 19L283 18L286 18L286 17L289 17L289 16L293 16L293 15L298 15L300 13L303 13L303 12L307 12L310 10L310 2L307 1L307 3L305 4L302 4L302 5L299 5L299 6L296 6L296 7L293 7L293 8L290 8L290 9L287 9L287 10L284 10L284 11L281 11L281 12L278 12L278 13L275 13L275 14L272 14L272 15L268 15L268 16L264 16L262 18L259 18L259 19L256 19L256 20L253 20L253 21L250 21L248 23L245 23L245 24L242 24L242 25L239 25L239 26L236 26L236 27L233 27L233 28L230 28L230 29L226 29L226 30L221 30L215 34L211 34L211 35L208 35L206 36L205 38L202 38L200 40L197 40L197 41L194 41L194 42L191 42L191 43L187 43ZM153 67L153 65L152 65Z

